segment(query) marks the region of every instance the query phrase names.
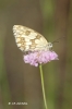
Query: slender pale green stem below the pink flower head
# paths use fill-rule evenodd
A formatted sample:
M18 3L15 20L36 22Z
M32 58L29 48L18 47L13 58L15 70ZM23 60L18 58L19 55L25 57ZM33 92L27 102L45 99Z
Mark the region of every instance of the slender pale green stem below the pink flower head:
M45 104L45 108L47 108L47 101L46 101L46 95L45 95L45 87L44 87L44 75L43 75L43 68L41 65L39 65L39 70L40 70L40 77L41 77L41 87L43 87L43 96L44 96L44 104Z

